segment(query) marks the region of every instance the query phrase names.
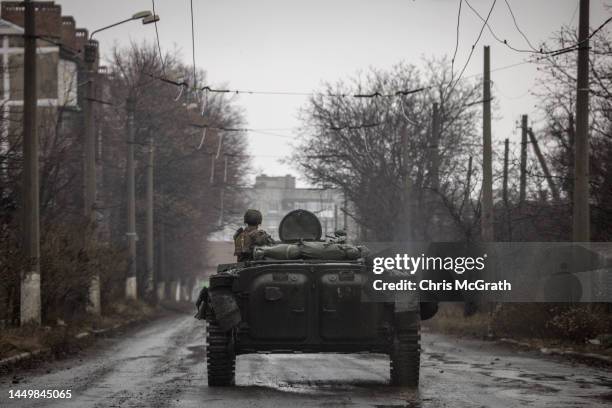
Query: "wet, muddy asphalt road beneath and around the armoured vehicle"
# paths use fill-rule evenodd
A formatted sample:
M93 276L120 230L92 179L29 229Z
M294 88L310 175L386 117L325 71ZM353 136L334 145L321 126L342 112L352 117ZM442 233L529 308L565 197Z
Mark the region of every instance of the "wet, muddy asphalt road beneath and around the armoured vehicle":
M237 386L206 385L204 323L177 315L80 356L0 377L0 407L609 407L612 373L482 341L423 334L419 391L393 388L383 355L246 355ZM70 400L11 400L70 389Z

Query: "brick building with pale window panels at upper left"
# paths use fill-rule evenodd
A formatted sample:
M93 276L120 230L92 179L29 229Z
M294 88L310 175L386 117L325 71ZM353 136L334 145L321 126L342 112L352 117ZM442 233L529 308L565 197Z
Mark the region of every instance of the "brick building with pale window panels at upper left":
M99 67L98 43L89 40L86 29L77 28L71 16L63 16L60 5L53 1L36 1L34 20L36 26L37 73L37 125L40 140L40 156L43 160L54 154L53 149L66 149L63 168L72 172L74 185L83 183L83 171L79 162L83 154L85 85L89 80L84 61L86 48L93 57L94 99L101 100L107 87L105 70ZM12 160L20 160L15 146L22 140L24 93L24 3L3 1L0 3L0 177L8 175ZM101 114L104 107L94 104L94 114ZM96 121L94 120L94 123ZM100 129L98 129L100 130ZM100 158L101 132L98 134ZM58 147L59 146L59 147ZM102 173L98 163L98 172ZM68 176L67 176L68 177ZM98 177L98 183L102 178ZM66 203L82 205L82 194L70 193ZM57 203L66 205L66 203Z

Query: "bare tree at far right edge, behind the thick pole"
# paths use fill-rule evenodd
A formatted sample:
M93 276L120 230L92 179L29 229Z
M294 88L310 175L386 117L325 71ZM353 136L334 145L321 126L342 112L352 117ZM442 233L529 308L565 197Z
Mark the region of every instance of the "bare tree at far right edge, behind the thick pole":
M553 38L559 47L577 42L576 32L562 28ZM611 168L612 159L612 41L607 30L591 39L590 51L590 184L593 239L605 241L612 237ZM543 124L538 130L545 137L548 160L552 163L554 180L564 192L565 206L571 208L574 166L574 118L576 96L576 55L568 52L540 61L540 78L536 95ZM532 180L541 180L541 172ZM560 237L567 239L567 237Z

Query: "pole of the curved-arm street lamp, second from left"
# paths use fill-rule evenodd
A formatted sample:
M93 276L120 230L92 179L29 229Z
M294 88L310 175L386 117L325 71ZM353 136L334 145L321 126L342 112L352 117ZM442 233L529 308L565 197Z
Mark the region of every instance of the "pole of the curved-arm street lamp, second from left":
M85 140L84 140L84 163L83 178L85 184L84 212L87 219L85 230L85 240L97 239L97 219L96 219L96 132L94 124L94 102L96 80L96 62L98 60L98 42L89 40L85 45L85 64L87 69L87 83L85 88ZM97 273L92 276L89 285L89 306L88 312L99 315L100 306L100 277Z

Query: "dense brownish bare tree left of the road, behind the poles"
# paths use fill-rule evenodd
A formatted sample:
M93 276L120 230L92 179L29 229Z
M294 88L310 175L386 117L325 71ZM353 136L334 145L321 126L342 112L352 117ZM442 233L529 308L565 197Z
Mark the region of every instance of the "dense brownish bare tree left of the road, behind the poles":
M173 278L190 280L202 270L204 240L239 211L239 188L249 168L242 134L218 128L244 125L232 97L207 95L159 80L188 78L190 67L177 55L164 56L162 67L152 45L115 50L109 65L106 96L115 106L105 111L103 206L109 208L111 236L125 234L125 100L135 98L137 230L144 232L145 154L155 146L156 236L164 224L166 266ZM199 72L201 80L204 72ZM210 127L204 134L203 126ZM141 232L142 231L142 232ZM139 253L139 262L144 254ZM139 270L144 270L140 267Z

